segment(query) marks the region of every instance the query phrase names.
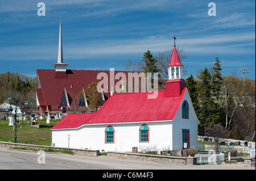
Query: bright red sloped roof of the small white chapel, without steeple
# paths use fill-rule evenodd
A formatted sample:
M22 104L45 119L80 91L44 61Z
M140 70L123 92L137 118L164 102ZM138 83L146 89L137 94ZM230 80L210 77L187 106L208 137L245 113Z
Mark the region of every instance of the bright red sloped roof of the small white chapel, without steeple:
M166 97L166 90L157 91L156 99L148 99L152 94L149 92L113 94L97 112L69 113L52 129L77 128L84 124L172 120L186 89L183 88L180 96L171 98Z

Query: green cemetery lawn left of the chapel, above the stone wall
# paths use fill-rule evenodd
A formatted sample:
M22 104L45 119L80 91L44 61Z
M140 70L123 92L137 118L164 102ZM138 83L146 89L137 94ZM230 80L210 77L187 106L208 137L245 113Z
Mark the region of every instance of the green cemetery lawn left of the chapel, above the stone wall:
M47 125L55 125L59 120L51 120ZM46 120L36 120L38 124L46 125ZM47 128L35 128L28 126L28 121L19 120L17 123L17 143L22 144L34 144L34 145L46 145L50 146L52 142L52 131L50 127ZM0 141L11 141L14 142L15 131L13 131L13 126L9 126L9 120L0 120Z

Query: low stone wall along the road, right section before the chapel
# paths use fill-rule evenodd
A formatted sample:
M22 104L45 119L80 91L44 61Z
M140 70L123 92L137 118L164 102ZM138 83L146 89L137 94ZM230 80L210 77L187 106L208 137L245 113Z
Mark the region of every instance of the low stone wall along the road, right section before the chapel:
M139 154L139 153L123 153L118 151L108 151L108 157L185 165L185 157L172 157L172 156L149 155L149 154ZM196 158L187 157L187 165L196 165Z

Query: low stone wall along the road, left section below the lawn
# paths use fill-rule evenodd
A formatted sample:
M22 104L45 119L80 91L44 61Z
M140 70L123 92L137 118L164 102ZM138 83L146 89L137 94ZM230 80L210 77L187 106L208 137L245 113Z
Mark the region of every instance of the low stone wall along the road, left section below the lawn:
M53 150L68 151L68 148L60 148L55 146L42 146L42 145L15 144L13 142L3 142L3 141L0 141L0 148L2 149L25 148L25 149L36 149L36 150L53 149ZM100 150L69 148L69 151L72 151L73 153L78 155L85 155L85 156L91 156L91 157L97 157L98 155L100 155Z

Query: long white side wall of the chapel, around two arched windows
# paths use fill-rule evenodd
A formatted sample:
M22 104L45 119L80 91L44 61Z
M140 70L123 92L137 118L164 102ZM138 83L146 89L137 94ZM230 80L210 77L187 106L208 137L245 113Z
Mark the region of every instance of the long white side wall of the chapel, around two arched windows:
M150 128L149 142L139 142L139 127L147 124ZM105 129L114 128L114 143L105 143ZM88 148L105 151L131 151L132 147L142 149L172 148L172 122L145 122L129 124L84 125L80 129L53 130L52 142L55 146L67 147L71 134L70 148ZM140 150L141 149L141 150Z

